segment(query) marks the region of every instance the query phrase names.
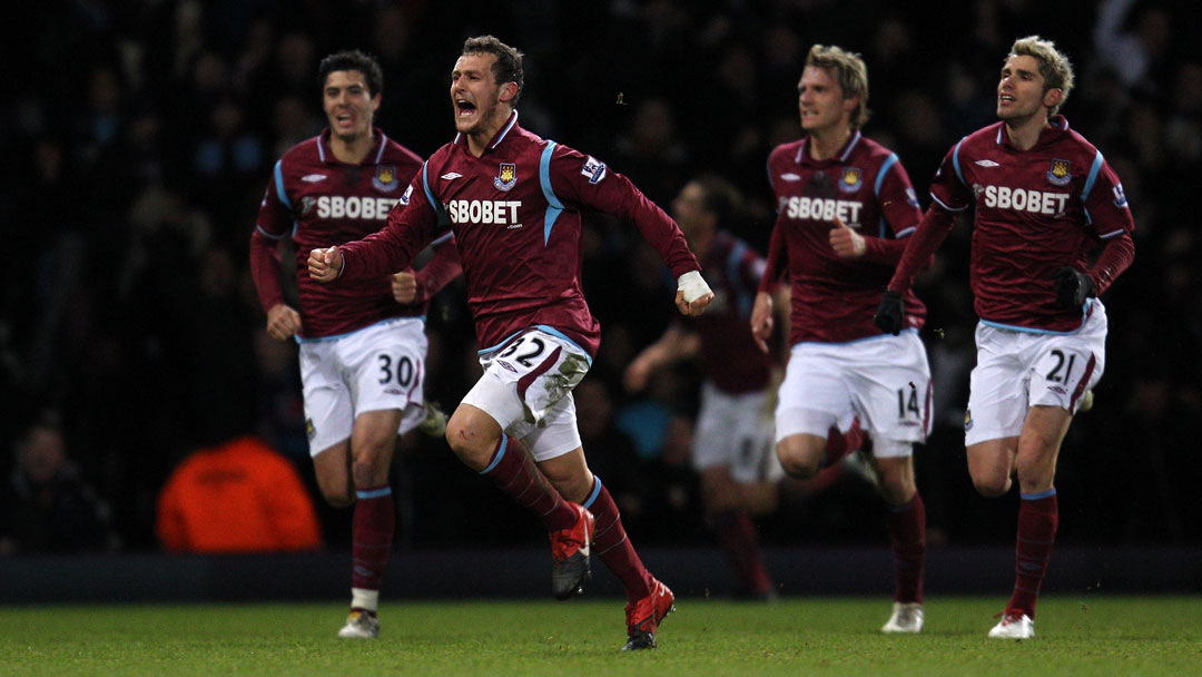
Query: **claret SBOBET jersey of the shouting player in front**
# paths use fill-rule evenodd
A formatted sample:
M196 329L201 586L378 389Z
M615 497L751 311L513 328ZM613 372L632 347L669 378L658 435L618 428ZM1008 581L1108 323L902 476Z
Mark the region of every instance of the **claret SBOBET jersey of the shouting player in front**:
M468 304L484 350L529 327L559 332L595 355L600 326L581 289L581 212L632 221L679 277L700 266L662 209L593 158L507 124L476 158L458 135L409 185L385 230L343 245L343 277L375 277L454 232ZM638 299L631 299L638 303Z

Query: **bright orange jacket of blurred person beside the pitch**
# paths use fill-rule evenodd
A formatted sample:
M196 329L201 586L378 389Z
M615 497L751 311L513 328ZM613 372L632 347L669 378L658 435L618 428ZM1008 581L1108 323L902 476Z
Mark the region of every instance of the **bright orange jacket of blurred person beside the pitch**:
M159 540L169 552L313 550L321 528L291 463L252 437L194 452L159 494Z

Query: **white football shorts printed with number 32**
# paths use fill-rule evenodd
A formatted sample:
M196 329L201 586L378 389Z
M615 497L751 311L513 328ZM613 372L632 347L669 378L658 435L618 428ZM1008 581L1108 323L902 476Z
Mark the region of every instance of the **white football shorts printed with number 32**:
M551 327L530 328L480 351L484 374L463 398L518 439L535 461L581 446L572 388L593 366L588 352Z

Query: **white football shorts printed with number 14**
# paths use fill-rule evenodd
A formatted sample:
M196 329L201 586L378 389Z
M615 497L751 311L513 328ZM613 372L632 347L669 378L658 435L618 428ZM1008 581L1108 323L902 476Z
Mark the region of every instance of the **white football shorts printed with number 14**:
M918 332L850 343L799 343L789 355L776 403L776 441L846 432L853 420L873 456L910 456L930 428L930 366Z

